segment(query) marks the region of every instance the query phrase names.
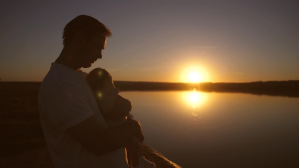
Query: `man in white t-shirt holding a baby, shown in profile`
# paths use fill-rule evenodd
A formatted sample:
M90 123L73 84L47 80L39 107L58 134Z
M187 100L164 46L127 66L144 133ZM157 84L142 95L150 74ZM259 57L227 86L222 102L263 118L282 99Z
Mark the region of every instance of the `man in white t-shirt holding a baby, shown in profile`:
M140 124L131 119L109 128L81 72L102 58L111 35L86 15L64 28L63 50L39 92L41 123L54 167L128 167L123 145L141 130Z

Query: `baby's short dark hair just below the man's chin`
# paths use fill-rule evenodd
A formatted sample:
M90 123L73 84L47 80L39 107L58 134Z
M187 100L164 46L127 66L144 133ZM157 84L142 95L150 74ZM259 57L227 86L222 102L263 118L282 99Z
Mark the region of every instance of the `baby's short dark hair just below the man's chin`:
M104 87L104 82L109 77L111 77L111 75L105 69L95 68L89 72L86 79L91 89L95 92L97 90L101 90Z

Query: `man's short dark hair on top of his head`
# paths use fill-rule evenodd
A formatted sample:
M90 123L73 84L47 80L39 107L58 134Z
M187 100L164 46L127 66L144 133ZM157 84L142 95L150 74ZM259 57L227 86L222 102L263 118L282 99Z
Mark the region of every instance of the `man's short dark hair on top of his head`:
M63 45L69 45L72 43L73 38L77 31L82 31L86 34L87 39L96 33L110 37L112 35L108 27L97 19L87 16L79 15L66 24L63 29Z

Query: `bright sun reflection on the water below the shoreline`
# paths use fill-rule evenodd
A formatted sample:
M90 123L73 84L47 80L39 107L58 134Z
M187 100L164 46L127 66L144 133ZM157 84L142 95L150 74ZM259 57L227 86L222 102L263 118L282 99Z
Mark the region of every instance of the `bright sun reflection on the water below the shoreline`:
M183 99L186 104L191 106L192 108L199 107L206 100L206 95L201 92L197 92L195 89L191 92L183 93Z

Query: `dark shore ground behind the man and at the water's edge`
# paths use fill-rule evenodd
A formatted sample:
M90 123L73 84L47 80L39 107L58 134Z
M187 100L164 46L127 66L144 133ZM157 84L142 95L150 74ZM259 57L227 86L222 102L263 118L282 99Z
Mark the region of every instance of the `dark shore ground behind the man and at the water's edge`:
M40 82L0 82L0 167L52 167L38 112ZM144 145L159 167L179 167Z

